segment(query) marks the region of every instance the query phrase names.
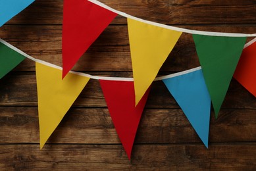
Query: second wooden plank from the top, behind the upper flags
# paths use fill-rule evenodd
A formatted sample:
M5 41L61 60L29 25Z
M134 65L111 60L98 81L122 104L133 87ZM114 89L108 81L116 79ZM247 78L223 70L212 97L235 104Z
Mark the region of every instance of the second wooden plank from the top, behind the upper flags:
M255 33L255 26L182 26L213 32ZM62 66L61 26L3 26L2 39L28 55ZM22 34L20 34L22 32ZM53 36L54 35L54 36ZM248 41L251 38L248 38ZM193 38L182 34L170 53L162 71L182 71L199 66ZM26 60L16 70L33 71L35 64ZM127 26L110 26L93 43L73 70L78 71L132 71Z

